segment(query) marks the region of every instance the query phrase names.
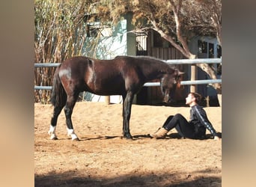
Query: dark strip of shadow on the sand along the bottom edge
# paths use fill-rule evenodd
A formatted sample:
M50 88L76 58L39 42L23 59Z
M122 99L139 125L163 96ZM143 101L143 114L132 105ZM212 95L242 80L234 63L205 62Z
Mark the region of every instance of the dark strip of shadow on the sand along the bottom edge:
M212 170L198 171L200 174L213 173ZM196 172L196 173L198 173ZM215 171L216 172L216 171ZM51 172L35 175L34 186L222 186L219 177L193 177L192 174L131 174L118 177L91 177L89 174L79 176L77 171L63 174Z

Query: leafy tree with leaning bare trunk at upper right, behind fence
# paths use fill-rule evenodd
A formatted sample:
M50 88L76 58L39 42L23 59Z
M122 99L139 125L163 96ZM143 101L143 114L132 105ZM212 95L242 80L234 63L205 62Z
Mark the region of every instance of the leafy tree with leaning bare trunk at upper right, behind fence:
M196 58L188 46L192 34L218 35L221 44L220 0L101 0L98 10L100 17L110 18L113 22L125 13L132 13L136 30L157 31L186 58ZM216 79L216 72L212 66L197 65L211 79ZM220 88L220 85L214 84L214 87Z

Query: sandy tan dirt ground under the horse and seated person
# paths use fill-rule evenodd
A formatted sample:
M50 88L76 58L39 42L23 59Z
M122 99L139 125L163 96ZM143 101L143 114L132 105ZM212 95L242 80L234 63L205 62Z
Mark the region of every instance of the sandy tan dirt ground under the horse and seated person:
M151 139L170 114L189 117L189 107L132 105L130 132L121 138L122 105L76 102L73 126L80 141L67 137L64 111L58 140L47 134L51 105L34 104L35 186L222 186L222 140ZM209 120L222 132L222 108L208 107Z

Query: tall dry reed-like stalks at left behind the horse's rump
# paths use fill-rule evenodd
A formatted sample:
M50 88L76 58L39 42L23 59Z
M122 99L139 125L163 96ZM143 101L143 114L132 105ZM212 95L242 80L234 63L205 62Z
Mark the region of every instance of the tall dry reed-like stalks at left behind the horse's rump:
M36 0L34 4L35 63L58 63L74 55L82 55L88 40L92 2ZM94 42L91 42L94 46ZM94 50L91 47L91 50ZM89 52L88 52L89 53ZM87 54L88 54L87 53ZM54 68L36 68L35 85L51 85ZM35 91L35 101L49 102L50 91Z

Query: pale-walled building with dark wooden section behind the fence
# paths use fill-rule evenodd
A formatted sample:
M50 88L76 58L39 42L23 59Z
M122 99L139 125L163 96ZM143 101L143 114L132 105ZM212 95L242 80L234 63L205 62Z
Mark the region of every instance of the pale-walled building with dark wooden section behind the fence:
M171 46L156 31L131 32L131 15L122 19L118 25L99 28L100 22L94 22L90 25L88 40L95 40L95 33L100 31L100 39L97 43L96 57L100 59L112 59L117 55L148 55L162 60L183 59L183 54ZM219 58L221 57L221 47L216 38L211 37L193 37L189 43L189 48L198 58ZM214 64L216 70L218 67ZM190 78L190 66L188 64L178 65L179 70L185 72L183 80ZM207 73L198 68L196 79L209 79ZM158 80L156 80L158 82ZM198 93L202 96L216 96L216 91L208 85L198 85ZM189 86L178 85L175 94L175 100L183 101L189 92ZM85 99L91 101L105 101L104 96L97 96L86 93ZM110 102L121 103L121 96L110 96ZM135 96L133 101L136 104L161 105L162 92L159 87L144 87Z

